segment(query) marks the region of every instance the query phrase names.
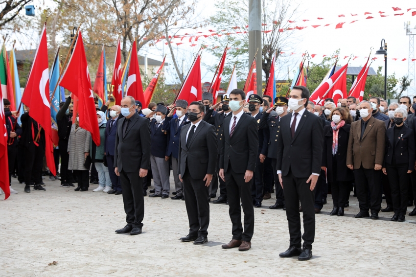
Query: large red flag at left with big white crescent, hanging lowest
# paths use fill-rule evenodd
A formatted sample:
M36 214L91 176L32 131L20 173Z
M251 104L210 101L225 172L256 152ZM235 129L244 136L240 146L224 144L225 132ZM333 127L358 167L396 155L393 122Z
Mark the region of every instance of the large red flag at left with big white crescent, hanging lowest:
M41 41L36 49L32 68L24 88L22 102L30 108L29 115L45 130L46 164L53 176L56 175L53 158L52 128L50 119L49 69L47 60L46 24L42 29ZM35 135L36 136L36 135Z

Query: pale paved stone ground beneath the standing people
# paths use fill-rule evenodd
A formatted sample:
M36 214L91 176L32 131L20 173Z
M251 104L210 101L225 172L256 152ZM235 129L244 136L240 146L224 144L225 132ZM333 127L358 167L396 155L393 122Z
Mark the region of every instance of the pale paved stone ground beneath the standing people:
M45 183L46 192L23 193L13 179L19 194L0 202L0 276L416 276L415 217L329 216L330 195L316 216L314 258L300 262L278 257L289 233L285 212L267 208L274 194L254 208L252 249L239 252L221 248L231 240L226 205L210 204L210 242L201 246L178 240L188 232L184 201L145 197L143 233L130 236L114 232L125 225L121 195ZM357 199L349 202L353 215ZM52 261L57 265L48 266Z

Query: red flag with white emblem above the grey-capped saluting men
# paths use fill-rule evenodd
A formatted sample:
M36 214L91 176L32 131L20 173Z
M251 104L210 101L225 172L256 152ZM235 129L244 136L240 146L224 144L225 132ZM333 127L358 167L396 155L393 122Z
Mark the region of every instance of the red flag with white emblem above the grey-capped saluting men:
M178 93L176 99L182 99L190 104L193 101L202 99L201 88L201 64L200 55L198 55L189 70L184 81L184 85Z

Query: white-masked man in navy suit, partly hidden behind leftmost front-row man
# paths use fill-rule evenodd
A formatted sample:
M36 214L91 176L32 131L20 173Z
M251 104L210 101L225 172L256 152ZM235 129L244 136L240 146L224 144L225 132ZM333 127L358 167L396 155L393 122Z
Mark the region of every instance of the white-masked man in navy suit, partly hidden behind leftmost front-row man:
M114 105L110 109L111 119L107 121L105 127L105 141L104 141L104 153L107 159L108 174L110 175L111 184L113 189L107 192L108 194L121 194L120 177L114 172L114 150L116 148L116 133L118 116L120 115L121 107Z

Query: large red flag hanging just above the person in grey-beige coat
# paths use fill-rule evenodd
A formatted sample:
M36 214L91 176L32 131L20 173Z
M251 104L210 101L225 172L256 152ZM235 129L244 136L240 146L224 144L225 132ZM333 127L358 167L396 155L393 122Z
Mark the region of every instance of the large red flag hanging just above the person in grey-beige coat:
M78 97L79 126L89 131L95 145L99 146L100 132L81 30L78 33L68 67L65 69L59 85Z

